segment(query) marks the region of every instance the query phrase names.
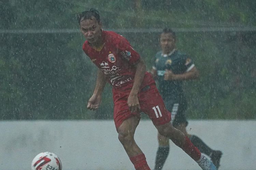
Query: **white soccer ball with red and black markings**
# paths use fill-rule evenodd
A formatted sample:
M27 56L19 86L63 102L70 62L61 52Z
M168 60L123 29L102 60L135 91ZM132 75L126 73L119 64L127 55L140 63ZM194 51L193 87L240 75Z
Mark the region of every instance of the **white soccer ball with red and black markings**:
M58 156L52 152L42 152L34 157L31 164L32 170L61 170Z

